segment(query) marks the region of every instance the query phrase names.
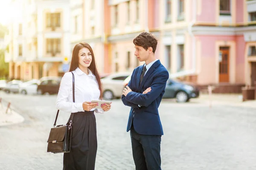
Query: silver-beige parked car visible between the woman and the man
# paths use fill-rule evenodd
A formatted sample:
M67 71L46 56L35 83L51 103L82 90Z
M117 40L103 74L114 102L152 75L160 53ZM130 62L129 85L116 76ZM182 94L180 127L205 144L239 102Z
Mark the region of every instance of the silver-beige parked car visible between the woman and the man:
M130 74L130 72L115 73L102 78L103 98L111 100L116 97L121 97L123 82Z

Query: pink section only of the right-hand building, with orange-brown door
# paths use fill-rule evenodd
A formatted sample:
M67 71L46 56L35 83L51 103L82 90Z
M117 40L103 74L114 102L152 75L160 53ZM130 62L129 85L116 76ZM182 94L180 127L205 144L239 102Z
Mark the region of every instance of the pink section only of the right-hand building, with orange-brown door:
M226 92L256 85L256 0L198 2L191 21L195 82L226 86Z

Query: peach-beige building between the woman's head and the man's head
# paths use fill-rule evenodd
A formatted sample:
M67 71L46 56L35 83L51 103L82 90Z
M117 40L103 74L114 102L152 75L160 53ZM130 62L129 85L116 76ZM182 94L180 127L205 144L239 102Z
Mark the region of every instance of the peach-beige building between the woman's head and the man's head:
M142 31L151 28L151 16L155 10L148 11L147 6L154 6L152 0L111 0L110 44L111 72L133 71L143 64L134 56L133 39ZM158 36L157 32L154 32ZM159 51L157 49L157 51Z

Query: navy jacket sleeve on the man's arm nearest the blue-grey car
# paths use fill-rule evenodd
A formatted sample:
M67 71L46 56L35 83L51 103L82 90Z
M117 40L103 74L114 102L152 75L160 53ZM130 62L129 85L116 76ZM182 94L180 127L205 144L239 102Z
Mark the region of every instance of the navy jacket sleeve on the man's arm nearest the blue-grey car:
M160 76L156 77L150 85L151 91L149 93L141 94L131 91L126 95L125 99L128 102L147 107L162 93L166 87L166 82L168 79L168 73L160 74Z

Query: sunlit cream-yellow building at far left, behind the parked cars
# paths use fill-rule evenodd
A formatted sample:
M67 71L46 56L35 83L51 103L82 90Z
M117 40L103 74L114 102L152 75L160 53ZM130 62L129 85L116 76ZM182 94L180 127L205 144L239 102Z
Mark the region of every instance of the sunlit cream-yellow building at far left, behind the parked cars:
M69 0L15 0L12 10L17 15L5 37L9 78L61 76L64 57L70 57Z

